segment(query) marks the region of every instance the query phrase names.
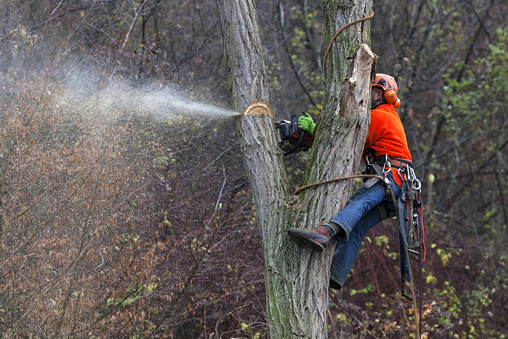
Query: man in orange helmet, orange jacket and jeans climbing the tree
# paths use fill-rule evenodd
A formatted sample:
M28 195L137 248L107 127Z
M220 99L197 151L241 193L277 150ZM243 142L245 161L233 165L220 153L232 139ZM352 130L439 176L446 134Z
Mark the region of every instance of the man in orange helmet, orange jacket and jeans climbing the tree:
M411 163L402 122L395 111L400 105L397 83L386 74L376 74L372 83L372 110L363 159L372 174L389 180L395 198L401 194L402 178L397 172ZM315 124L305 114L298 126L310 133ZM376 173L374 173L376 172ZM367 181L330 222L314 229L288 229L290 238L298 244L321 252L334 238L337 243L330 268L330 287L341 289L358 255L363 236L380 221L396 216L396 207L385 189L386 183L377 179Z

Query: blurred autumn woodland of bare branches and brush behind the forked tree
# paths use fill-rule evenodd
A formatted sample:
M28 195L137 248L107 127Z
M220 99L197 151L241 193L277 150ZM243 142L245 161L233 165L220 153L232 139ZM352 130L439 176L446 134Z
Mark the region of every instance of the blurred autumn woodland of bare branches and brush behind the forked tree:
M317 119L321 2L256 5L275 120ZM377 71L397 79L423 184L424 336L504 337L508 4L373 10ZM181 110L230 105L214 1L4 0L0 86L3 334L263 335L263 252L233 118ZM305 162L285 159L295 189ZM394 220L369 232L330 292L329 337L411 337L397 247Z

